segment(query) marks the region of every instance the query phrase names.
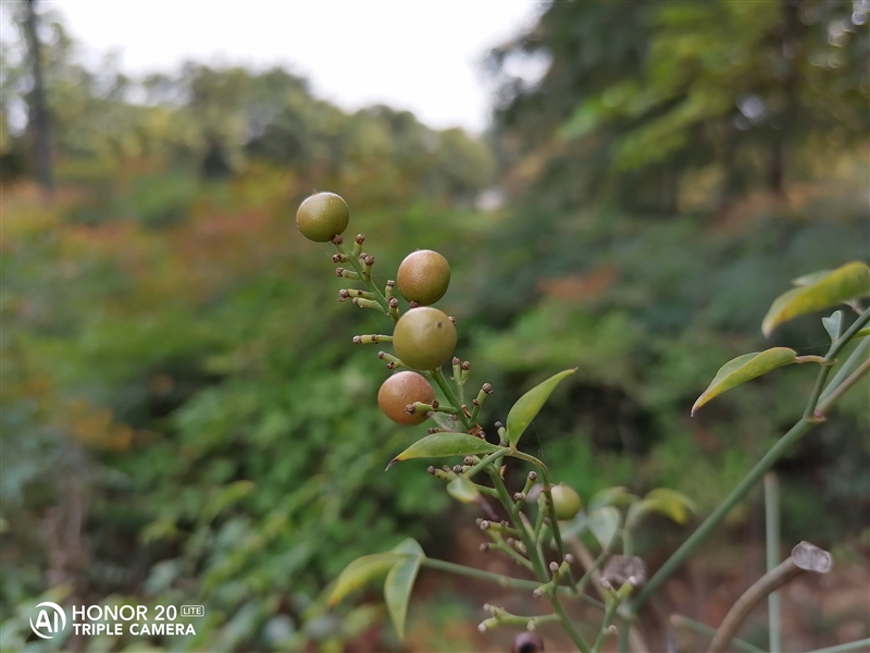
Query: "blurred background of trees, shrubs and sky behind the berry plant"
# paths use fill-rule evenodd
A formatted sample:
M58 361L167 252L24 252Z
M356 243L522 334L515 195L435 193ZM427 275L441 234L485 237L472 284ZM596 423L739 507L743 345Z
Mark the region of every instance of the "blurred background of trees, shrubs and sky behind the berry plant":
M314 4L2 3L3 651L510 648L476 624L520 599L468 579L421 575L403 644L377 588L324 605L408 535L513 569L425 464L383 471L425 427L377 410L386 371L350 338L388 326L296 231L313 190L346 198L378 279L450 260L489 423L579 366L525 446L584 500L668 486L703 518L803 410L795 367L688 417L738 354L823 353L818 319L763 341L761 318L868 258L870 3ZM836 559L784 590L787 650L870 637L868 392L776 467L783 543ZM691 526L649 519L637 552L655 568ZM763 568L756 491L652 612L718 626ZM47 600L206 617L33 641Z

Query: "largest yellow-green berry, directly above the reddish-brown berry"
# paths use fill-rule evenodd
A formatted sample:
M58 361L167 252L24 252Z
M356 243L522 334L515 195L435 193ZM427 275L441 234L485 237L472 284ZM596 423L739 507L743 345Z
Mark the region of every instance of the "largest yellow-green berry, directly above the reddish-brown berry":
M393 330L393 348L415 370L432 370L450 358L456 347L456 326L437 308L421 306L403 313Z

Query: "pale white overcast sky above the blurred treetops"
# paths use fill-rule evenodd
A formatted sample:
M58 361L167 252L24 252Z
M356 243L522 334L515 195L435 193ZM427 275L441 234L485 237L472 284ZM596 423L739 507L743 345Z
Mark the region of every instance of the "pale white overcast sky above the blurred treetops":
M55 0L98 61L127 73L185 59L283 64L347 109L383 102L434 127L480 132L492 84L486 50L534 23L535 0Z

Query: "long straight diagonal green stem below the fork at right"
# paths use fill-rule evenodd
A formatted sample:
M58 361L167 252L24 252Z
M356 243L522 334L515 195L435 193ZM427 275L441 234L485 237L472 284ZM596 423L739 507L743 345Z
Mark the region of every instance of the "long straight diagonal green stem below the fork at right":
M825 370L830 368L822 368L820 371L824 373ZM773 467L773 464L780 459L780 457L800 438L803 438L807 431L809 431L812 427L815 427L817 421L815 419L809 420L806 418L801 418L794 427L792 427L788 432L783 435L776 444L774 444L770 451L761 458L756 466L747 473L744 479L737 484L736 488L728 495L725 501L723 501L719 506L710 514L707 519L704 520L701 523L689 538L683 542L683 544L678 549L668 562L666 562L661 568L656 571L652 578L649 579L649 582L644 587L637 597L631 602L630 609L631 613L636 615L641 607L649 600L649 597L658 591L661 584L670 577L671 574L676 570L676 568L683 564L683 562L692 554L693 551L700 544L710 532L719 526L719 522L724 519L725 515L728 515L731 509L737 505L739 501L743 500L744 496L751 490L755 484L765 476L765 473Z

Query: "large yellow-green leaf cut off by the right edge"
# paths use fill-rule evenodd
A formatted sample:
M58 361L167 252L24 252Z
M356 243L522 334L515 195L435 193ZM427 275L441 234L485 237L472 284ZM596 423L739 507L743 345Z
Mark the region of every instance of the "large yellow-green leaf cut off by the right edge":
M860 261L846 263L821 276L813 274L796 280L804 281L808 281L808 284L793 288L773 300L761 322L761 332L766 336L778 325L798 316L870 295L870 268Z

